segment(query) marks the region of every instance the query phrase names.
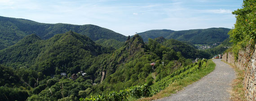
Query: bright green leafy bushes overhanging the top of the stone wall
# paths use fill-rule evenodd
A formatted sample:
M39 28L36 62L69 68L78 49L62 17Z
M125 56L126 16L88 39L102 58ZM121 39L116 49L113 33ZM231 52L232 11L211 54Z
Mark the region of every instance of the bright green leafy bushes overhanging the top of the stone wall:
M239 50L256 44L256 0L243 0L242 9L232 12L236 15L234 29L229 32L232 51L238 58Z

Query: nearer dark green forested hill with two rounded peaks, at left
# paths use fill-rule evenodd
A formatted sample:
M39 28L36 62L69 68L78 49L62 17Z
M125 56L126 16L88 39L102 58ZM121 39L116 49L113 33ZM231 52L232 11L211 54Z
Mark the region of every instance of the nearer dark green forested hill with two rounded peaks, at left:
M54 35L49 40L41 40L32 34L17 44L0 50L0 64L14 68L33 67L46 75L55 74L55 67L61 67L59 72L74 73L80 70L80 66L88 68L86 66L93 57L113 50L114 48L102 47L88 37L72 31ZM55 69L51 70L53 68Z

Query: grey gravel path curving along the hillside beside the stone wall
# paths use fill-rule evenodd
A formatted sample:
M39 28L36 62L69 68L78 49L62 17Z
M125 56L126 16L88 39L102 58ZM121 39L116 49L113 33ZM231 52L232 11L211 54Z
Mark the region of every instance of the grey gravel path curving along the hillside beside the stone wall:
M215 70L180 92L156 101L229 101L231 85L236 75L221 59L213 59Z

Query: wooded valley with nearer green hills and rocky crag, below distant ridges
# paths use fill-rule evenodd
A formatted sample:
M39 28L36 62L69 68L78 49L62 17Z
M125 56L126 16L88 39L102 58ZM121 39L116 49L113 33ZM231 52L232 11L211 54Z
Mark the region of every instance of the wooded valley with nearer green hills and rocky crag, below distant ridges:
M146 87L155 88L156 82L166 82L162 79L170 74L175 76L185 68L200 68L192 64L195 58L211 57L189 42L163 37L149 39L146 44L138 34L128 36L125 42L107 39L96 42L67 31L46 40L36 34L27 35L0 50L1 70L6 74L1 90L7 94L2 99L10 99L13 95L8 93L12 92L18 93L13 99L25 94L25 99L33 101L79 100L145 83ZM155 62L154 68L151 62ZM202 61L204 66L205 63ZM9 76L13 80L5 79Z

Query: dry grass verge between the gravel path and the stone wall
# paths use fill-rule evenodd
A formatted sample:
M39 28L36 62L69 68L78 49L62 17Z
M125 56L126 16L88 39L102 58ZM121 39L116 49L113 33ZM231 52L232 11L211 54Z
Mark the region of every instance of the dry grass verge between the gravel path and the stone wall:
M230 91L230 94L231 94L230 100L246 101L246 97L243 89L244 70L240 70L237 66L234 66L233 64L230 64L230 63L227 63L227 64L229 64L232 68L234 68L237 75L236 79L234 79L232 82L232 91Z

